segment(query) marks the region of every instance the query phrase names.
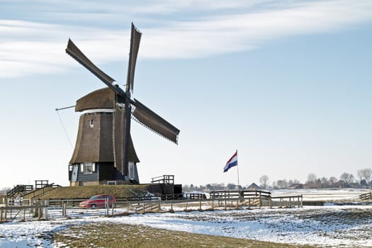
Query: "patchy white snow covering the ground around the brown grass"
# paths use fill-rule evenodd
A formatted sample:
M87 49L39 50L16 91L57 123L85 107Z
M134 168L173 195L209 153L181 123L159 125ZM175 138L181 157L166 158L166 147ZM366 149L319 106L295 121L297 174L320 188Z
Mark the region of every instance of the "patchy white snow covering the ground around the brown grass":
M293 191L291 193L296 194ZM315 191L312 195L314 193L317 194ZM324 193L319 197L327 198ZM346 194L347 198L354 197L350 196L350 192L335 193ZM283 194L288 195L288 192ZM105 212L105 210L95 211L101 211L102 215ZM115 209L115 213L125 211L125 208ZM91 222L148 225L207 235L291 244L317 244L322 247L372 247L372 205L152 213L115 218L99 217L89 213L87 211L81 214L79 210L79 213L69 215L67 219L57 216L55 220L2 223L0 224L0 247L58 247L58 244L50 243L47 237L72 225Z

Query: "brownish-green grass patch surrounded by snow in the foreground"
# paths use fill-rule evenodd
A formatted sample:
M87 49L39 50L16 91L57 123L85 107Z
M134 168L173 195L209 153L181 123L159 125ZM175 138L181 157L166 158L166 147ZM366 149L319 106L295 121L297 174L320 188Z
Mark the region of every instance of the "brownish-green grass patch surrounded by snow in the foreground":
M51 238L57 247L313 247L213 235L198 235L143 225L125 225L110 222L90 223L84 226L75 225L53 234Z

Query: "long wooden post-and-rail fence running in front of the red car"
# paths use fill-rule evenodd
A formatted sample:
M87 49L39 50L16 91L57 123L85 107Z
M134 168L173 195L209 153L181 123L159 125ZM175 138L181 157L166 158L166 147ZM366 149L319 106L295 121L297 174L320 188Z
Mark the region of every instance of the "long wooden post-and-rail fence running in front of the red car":
M50 220L77 218L86 215L127 215L131 213L165 213L191 210L231 210L251 208L295 208L303 206L302 196L250 197L250 198L188 198L162 201L116 201L115 206L101 209L81 209L81 199L28 201L23 205L0 207L0 222L20 220Z

